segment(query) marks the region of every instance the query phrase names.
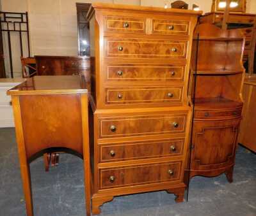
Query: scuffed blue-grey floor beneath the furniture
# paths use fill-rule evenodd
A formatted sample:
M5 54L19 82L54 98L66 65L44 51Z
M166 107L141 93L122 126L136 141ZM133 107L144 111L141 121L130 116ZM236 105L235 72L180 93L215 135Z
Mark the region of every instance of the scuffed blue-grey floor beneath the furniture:
M60 166L44 171L42 157L31 163L35 216L82 216L84 211L83 161L61 154ZM19 159L12 128L0 129L0 215L26 215ZM234 182L225 175L196 176L191 180L189 201L175 203L165 191L120 196L102 206L100 216L255 216L256 155L239 147Z

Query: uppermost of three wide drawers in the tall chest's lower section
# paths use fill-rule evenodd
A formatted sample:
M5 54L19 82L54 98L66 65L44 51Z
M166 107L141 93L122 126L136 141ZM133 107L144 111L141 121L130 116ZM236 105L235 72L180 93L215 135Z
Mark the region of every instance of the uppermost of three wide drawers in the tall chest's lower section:
M184 133L186 114L99 118L99 138Z

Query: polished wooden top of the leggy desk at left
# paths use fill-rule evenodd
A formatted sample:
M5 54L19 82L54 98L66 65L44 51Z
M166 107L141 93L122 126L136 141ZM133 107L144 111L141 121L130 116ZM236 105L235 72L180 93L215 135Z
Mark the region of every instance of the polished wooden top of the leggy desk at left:
M33 76L8 90L8 95L87 93L84 76Z

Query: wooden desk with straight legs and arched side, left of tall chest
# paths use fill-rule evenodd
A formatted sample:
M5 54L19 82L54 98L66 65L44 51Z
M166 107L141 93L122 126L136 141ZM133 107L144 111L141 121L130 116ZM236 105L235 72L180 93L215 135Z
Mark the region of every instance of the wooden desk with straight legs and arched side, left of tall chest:
M84 159L89 216L88 89L83 76L34 76L7 94L12 96L27 214L33 216L29 162L44 151L61 147Z

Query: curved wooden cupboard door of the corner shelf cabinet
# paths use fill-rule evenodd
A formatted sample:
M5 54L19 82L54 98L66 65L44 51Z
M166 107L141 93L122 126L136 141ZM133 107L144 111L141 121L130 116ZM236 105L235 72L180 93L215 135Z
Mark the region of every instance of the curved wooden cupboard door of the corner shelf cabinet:
M240 119L222 121L195 121L191 169L210 170L231 166L237 144Z

